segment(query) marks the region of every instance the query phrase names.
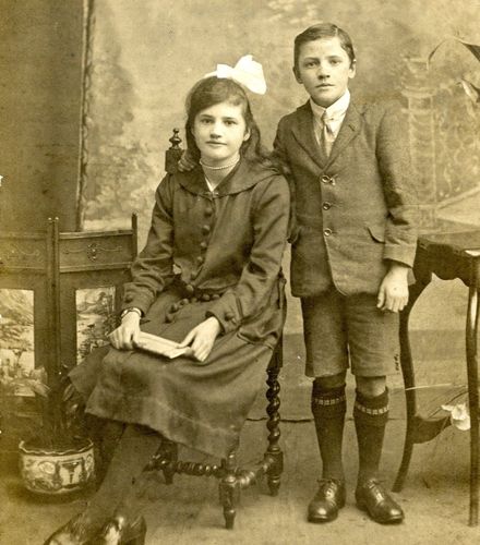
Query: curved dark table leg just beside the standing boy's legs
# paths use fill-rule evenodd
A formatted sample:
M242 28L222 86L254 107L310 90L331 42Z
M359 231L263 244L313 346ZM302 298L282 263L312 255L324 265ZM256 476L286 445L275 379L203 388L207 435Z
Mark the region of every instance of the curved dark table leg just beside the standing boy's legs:
M415 390L415 371L411 358L411 347L408 330L410 313L417 299L431 281L431 275L422 281L417 281L409 289L409 300L407 306L400 313L400 364L401 375L405 385L405 399L407 403L407 429L405 434L404 455L398 469L397 477L395 479L394 492L400 492L404 487L405 479L407 477L410 459L413 451L416 436L416 413L417 413L417 395Z

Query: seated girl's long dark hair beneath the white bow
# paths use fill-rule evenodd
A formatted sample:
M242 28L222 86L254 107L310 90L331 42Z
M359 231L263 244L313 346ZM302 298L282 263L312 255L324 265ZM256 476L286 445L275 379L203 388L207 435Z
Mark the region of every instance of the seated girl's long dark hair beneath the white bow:
M197 82L187 97L185 138L189 155L192 159L195 161L200 159L200 149L192 133L195 117L206 108L220 102L228 102L242 108L250 137L241 145L240 155L250 162L268 164L268 154L262 145L260 129L253 119L245 92L232 80L216 76L205 77Z

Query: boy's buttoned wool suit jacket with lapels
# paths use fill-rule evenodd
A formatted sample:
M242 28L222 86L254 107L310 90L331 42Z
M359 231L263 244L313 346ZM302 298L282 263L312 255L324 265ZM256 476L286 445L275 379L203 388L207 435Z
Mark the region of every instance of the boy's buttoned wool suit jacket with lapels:
M377 293L388 259L411 266L417 199L398 106L350 102L327 158L310 101L284 117L275 138L292 190L291 290Z

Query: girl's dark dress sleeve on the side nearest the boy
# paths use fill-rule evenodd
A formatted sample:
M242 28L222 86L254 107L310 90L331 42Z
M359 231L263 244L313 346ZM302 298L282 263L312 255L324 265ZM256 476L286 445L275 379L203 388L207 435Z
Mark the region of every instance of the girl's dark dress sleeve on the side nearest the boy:
M287 241L290 194L280 175L272 177L261 190L252 215L254 243L249 261L238 284L224 293L207 312L207 316L218 319L224 332L237 329L264 311L272 290L277 287Z

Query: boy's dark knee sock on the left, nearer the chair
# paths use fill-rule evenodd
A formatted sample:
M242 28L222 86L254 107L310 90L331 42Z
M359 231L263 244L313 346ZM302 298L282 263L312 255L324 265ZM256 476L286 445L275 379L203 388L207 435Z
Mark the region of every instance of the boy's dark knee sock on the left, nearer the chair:
M312 413L324 479L344 479L341 444L346 408L345 385L327 389L313 383Z

